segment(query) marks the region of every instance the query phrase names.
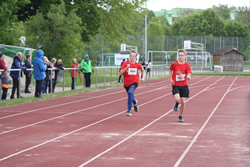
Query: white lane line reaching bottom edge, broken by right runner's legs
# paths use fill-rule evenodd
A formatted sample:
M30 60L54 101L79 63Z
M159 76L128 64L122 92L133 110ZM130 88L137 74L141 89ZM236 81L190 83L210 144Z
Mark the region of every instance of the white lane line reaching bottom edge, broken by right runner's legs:
M195 94L194 96L192 96L191 98L189 98L187 100L187 102L191 99L193 99L194 97L198 96L199 94L201 94L202 92L206 91L209 87L211 87L212 85L216 84L217 82L219 82L220 80L222 80L224 77L218 79L217 81L215 81L214 83L210 84L208 87L206 87L205 89L203 89L202 91L198 92L197 94ZM117 146L121 145L122 143L124 143L125 141L127 141L128 139L130 139L131 137L135 136L136 134L138 134L139 132L141 132L142 130L146 129L147 127L149 127L150 125L152 125L153 123L159 121L161 118L165 117L166 115L168 115L171 111L173 111L173 109L169 110L168 112L166 112L165 114L163 114L162 116L160 116L159 118L155 119L154 121L150 122L149 124L147 124L146 126L144 126L143 128L139 129L138 131L134 132L133 134L129 135L128 137L126 137L125 139L123 139L122 141L118 142L117 144L113 145L112 147L106 149L105 151L101 152L100 154L96 155L95 157L91 158L90 160L86 161L85 163L81 164L79 167L83 167L89 163L91 163L92 161L96 160L97 158L99 158L100 156L106 154L107 152L111 151L112 149L116 148Z

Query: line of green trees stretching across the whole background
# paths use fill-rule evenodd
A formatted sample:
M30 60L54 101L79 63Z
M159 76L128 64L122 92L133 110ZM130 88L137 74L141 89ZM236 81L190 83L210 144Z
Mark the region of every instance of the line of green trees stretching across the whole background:
M213 6L201 12L181 13L170 25L164 16L145 8L147 0L3 0L0 1L0 43L41 48L48 58L70 64L81 59L88 46L98 45L97 34L119 47L128 35L142 35L145 15L148 36L238 36L248 38L249 7ZM235 20L230 18L234 10ZM150 39L148 39L150 40ZM99 41L99 46L103 41ZM102 48L108 51L110 48Z

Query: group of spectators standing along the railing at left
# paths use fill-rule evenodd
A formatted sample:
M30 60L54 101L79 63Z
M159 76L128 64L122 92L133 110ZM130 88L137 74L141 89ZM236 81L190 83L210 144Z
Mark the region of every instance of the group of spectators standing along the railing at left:
M47 94L47 90L49 87L49 93L55 92L55 87L57 83L57 76L59 70L66 70L63 67L63 63L61 59L56 60L52 58L51 61L48 60L46 56L44 56L44 52L41 49L38 49L36 52L36 57L33 60L33 64L31 63L31 56L27 55L25 63L23 65L22 62L22 53L18 52L13 59L13 63L11 66L12 70L20 69L20 71L10 71L10 76L12 77L13 87L10 99L15 98L15 92L17 98L22 98L20 95L20 85L19 79L23 76L26 77L25 80L25 93L31 93L29 90L29 86L32 79L32 73L34 75L34 79L36 80L36 87L35 87L35 97L36 98L43 98L42 94ZM4 62L5 55L0 54L0 69L4 70L0 72L0 79L2 81L2 100L6 100L8 87L9 87L9 70ZM33 68L33 70L32 70ZM84 60L82 60L81 64L77 65L77 60L74 58L72 60L71 68L81 68L82 72L84 73L85 78L85 86L90 87L91 84L91 73L92 73L92 66L91 61L89 60L89 56L86 54ZM52 69L52 70L51 70ZM78 70L71 70L71 78L72 78L72 85L71 89L75 89L75 81L77 78ZM52 82L51 82L52 81Z

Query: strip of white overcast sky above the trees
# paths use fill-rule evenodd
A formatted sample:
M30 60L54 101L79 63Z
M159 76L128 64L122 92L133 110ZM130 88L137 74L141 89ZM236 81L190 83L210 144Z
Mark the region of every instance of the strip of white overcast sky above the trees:
M147 8L153 11L173 8L207 9L213 5L250 6L250 0L148 0Z

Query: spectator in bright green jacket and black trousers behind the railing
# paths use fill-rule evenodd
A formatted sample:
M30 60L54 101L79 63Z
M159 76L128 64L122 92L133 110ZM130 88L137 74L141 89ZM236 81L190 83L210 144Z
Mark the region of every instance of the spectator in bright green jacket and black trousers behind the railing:
M84 74L85 86L90 87L92 67L91 67L91 61L89 60L89 55L87 54L85 55L84 60L82 60L81 62L81 68Z

